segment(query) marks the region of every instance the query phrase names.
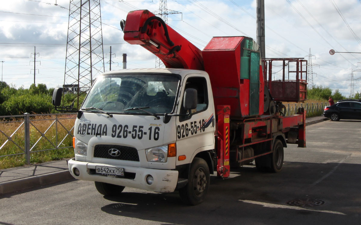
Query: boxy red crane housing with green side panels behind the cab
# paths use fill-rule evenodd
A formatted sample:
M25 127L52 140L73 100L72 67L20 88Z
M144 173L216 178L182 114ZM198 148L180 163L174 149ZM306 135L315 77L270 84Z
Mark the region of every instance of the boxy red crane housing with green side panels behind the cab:
M213 37L202 51L204 68L212 85L214 104L230 105L232 118L263 114L264 80L258 62L257 76L254 76L257 87L252 92L257 94L256 100L250 100L251 51L258 53L259 48L248 37ZM250 113L251 107L253 113Z

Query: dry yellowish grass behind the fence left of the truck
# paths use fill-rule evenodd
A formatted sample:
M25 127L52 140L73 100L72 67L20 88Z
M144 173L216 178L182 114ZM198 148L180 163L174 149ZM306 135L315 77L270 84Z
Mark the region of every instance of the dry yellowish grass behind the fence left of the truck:
M74 156L73 148L56 149L72 146L75 115L30 116L30 163L47 162ZM0 122L0 169L26 165L25 123L23 118L12 118ZM64 127L65 128L64 128ZM71 135L68 135L68 131ZM57 131L57 132L56 132ZM45 134L44 134L45 133ZM44 134L44 135L42 135ZM8 137L11 136L11 138ZM65 139L64 139L65 138ZM64 140L63 140L64 139ZM53 149L40 151L44 149Z

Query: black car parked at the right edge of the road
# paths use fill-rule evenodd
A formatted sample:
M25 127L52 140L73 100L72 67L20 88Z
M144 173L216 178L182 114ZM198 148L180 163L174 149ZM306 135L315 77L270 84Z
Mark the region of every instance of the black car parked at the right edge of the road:
M331 118L332 121L340 119L361 120L361 102L345 100L331 106L325 106L323 116Z

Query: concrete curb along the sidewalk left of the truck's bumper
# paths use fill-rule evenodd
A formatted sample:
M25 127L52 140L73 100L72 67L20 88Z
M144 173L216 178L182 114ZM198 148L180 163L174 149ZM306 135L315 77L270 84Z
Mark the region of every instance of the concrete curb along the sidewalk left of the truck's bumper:
M16 192L69 179L75 180L75 178L71 176L69 170L64 170L50 174L22 178L19 180L7 181L0 184L0 194Z

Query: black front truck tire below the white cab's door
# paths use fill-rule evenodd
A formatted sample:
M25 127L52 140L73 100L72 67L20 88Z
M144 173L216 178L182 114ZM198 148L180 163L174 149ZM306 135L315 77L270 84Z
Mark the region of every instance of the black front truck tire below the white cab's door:
M179 189L184 204L195 206L204 201L209 188L209 168L202 158L194 158L188 175L188 183Z

